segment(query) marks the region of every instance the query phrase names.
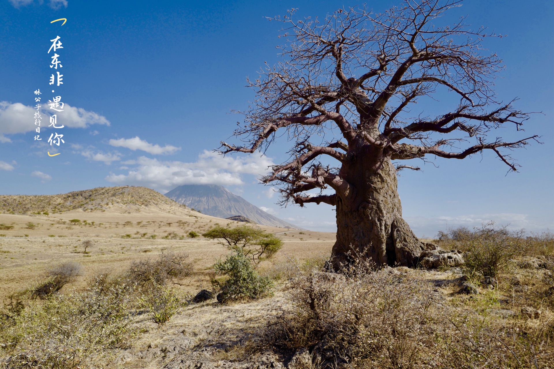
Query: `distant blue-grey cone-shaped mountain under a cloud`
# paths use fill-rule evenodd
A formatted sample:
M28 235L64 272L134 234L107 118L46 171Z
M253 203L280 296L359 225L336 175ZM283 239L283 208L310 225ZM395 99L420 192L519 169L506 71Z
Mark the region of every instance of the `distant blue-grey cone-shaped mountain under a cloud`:
M302 229L264 212L227 188L216 184L185 184L173 188L165 196L213 217L243 216L262 225Z

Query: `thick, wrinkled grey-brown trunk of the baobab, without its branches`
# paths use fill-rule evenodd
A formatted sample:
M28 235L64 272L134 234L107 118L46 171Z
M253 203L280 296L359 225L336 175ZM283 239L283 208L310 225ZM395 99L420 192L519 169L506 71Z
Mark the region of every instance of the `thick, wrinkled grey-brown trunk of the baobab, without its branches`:
M371 258L377 265L416 266L424 249L402 219L396 171L389 158L364 160L375 153L361 152L345 163L341 176L352 186L348 196L336 198L337 240L332 264Z

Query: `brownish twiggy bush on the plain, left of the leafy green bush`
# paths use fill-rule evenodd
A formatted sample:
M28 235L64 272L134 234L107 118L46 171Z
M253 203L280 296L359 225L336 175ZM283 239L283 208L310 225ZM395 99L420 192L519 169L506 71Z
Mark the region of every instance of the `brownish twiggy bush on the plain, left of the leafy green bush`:
M165 285L192 274L192 263L187 263L188 254L162 252L157 259L144 259L131 264L127 278L139 285Z

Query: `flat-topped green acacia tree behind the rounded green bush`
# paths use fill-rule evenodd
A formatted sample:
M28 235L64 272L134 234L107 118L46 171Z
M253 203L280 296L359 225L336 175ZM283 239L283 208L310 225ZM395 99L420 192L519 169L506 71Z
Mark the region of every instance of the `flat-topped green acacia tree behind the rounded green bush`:
M202 235L206 238L218 239L219 244L229 250L243 253L257 263L273 257L283 247L283 241L274 234L249 225L235 228L216 225Z

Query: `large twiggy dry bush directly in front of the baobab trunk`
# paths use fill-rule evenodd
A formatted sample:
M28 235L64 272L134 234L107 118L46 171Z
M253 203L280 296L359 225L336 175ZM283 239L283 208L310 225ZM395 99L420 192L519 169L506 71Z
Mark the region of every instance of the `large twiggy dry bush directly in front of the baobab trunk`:
M291 351L308 348L322 367L413 366L422 345L432 346L433 294L415 279L372 272L372 266L361 262L346 275L313 271L296 279L294 309L269 326L270 341Z

